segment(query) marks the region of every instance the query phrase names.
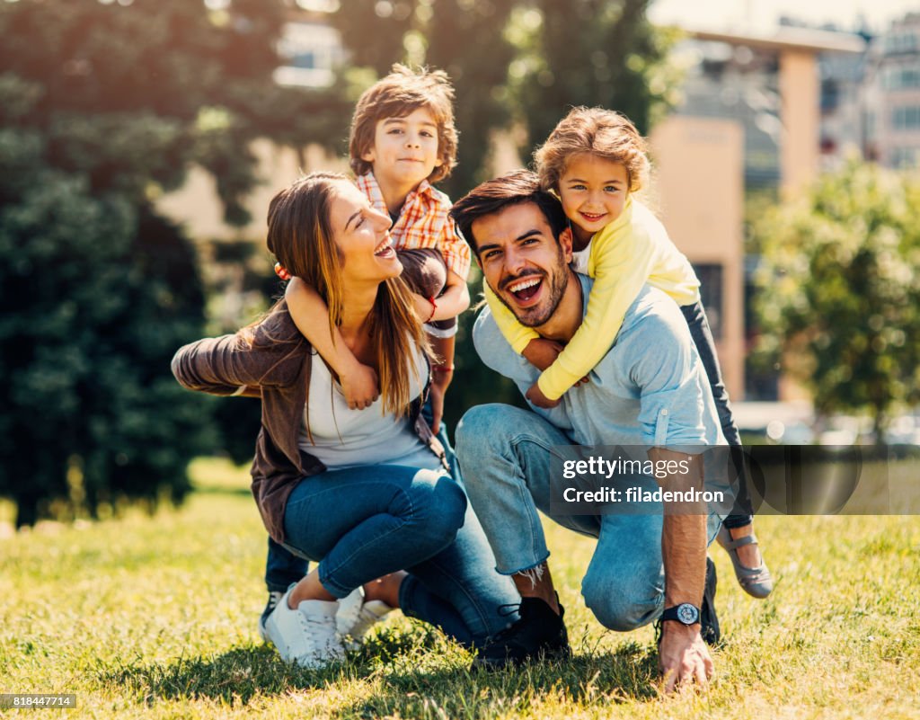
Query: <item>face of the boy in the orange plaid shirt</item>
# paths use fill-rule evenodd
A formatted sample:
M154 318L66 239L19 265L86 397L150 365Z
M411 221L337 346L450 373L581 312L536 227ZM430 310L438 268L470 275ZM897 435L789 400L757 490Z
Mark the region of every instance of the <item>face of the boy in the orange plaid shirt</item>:
M378 182L414 188L443 161L438 157L438 124L426 108L404 118L378 120L374 145L362 155Z

